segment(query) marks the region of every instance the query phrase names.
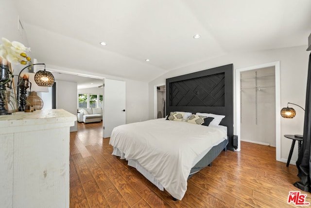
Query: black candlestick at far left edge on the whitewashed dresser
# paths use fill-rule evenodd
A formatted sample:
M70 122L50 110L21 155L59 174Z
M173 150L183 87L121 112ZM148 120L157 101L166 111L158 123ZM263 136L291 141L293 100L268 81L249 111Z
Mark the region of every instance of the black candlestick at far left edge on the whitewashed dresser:
M5 109L5 98L6 98L6 88L7 84L10 82L12 74L9 70L8 65L3 65L0 63L0 115L12 114L7 109Z

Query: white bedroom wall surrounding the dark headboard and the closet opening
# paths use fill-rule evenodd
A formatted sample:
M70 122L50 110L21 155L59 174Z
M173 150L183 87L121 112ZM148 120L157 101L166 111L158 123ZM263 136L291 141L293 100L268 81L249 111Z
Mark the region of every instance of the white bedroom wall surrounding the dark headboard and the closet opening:
M308 37L306 37L308 38ZM165 83L166 78L202 71L217 66L233 63L234 69L280 61L281 76L281 108L287 102L298 105L305 105L308 58L310 52L306 51L307 46L291 48L257 51L249 53L228 54L216 57L195 65L186 66L170 71L155 80L149 82L149 118L154 117L154 86ZM235 98L234 98L235 99ZM235 105L234 105L235 109ZM235 113L235 112L234 112ZM235 117L235 114L234 114ZM293 119L281 119L281 160L287 161L292 140L283 137L284 134L302 134L304 122L304 112L297 109L297 114ZM235 120L234 120L235 123ZM234 130L235 131L235 130ZM295 147L292 164L297 160L297 147Z

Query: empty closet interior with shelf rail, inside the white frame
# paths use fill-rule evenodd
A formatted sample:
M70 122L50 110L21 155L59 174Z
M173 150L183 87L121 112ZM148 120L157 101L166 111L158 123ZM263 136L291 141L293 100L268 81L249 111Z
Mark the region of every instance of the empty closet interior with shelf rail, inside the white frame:
M275 67L240 73L241 141L276 147Z

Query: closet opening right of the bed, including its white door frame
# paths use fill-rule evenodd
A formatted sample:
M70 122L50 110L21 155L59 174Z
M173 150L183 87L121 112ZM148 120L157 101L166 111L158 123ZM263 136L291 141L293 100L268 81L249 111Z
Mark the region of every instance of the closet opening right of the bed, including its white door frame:
M280 62L235 70L235 134L241 141L276 147L281 161Z

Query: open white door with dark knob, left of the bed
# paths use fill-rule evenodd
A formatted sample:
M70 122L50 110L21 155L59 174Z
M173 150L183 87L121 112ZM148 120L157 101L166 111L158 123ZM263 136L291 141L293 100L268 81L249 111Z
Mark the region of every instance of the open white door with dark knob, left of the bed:
M125 124L125 82L104 79L103 137L110 137L113 128Z

